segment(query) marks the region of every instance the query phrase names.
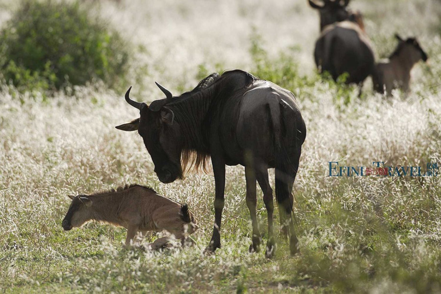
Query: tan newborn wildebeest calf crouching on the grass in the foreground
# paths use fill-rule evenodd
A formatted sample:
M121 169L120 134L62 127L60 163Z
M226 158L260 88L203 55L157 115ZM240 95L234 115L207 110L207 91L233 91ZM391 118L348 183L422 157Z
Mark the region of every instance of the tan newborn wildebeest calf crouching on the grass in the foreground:
M93 195L69 197L72 203L62 223L65 231L95 220L125 227L126 247L134 243L137 232L141 232L142 238L147 231L163 230L181 239L183 245L186 239L195 243L188 235L198 226L187 205L161 196L152 188L130 185ZM168 241L168 237L159 238L151 244L152 249L158 249Z

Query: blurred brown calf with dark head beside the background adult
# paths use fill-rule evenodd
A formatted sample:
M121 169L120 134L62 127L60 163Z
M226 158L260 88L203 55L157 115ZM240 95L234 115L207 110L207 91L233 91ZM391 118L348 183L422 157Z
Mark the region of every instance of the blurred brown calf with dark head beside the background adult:
M419 60L426 62L427 54L422 50L415 38L403 40L398 34L395 35L398 45L395 51L389 56L389 62L377 63L375 66L372 81L374 90L389 96L392 89L409 89L412 67Z

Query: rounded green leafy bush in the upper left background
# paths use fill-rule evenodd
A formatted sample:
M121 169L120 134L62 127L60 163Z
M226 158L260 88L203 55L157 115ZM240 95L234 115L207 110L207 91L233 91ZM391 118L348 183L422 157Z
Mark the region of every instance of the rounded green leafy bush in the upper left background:
M94 78L118 86L129 53L79 3L24 0L0 32L0 69L19 89L62 89Z

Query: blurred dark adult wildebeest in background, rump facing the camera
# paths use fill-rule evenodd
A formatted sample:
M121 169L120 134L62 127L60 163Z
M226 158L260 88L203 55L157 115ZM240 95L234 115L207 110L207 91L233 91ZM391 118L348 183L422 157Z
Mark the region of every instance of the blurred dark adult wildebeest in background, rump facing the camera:
M314 60L319 72L328 71L334 81L348 73L346 83L359 84L374 70L374 52L364 32L362 15L347 9L349 0L309 0L320 12L320 37Z

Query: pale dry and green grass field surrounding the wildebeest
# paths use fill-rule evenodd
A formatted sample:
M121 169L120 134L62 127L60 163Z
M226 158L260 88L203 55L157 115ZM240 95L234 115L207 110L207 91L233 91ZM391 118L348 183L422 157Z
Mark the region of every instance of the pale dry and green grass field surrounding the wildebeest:
M0 26L15 9L0 4ZM152 1L153 2L153 1ZM102 1L87 6L136 48L133 97L192 89L212 71L240 68L290 89L306 122L294 212L301 254L277 234L273 260L248 253L251 225L243 167L227 167L222 248L202 254L214 220L211 173L162 184L134 133L114 126L137 117L101 83L54 97L0 85L0 291L6 293L441 293L441 173L435 177L329 177L340 165L421 166L441 162L441 3L353 0L377 58L393 34L416 35L429 55L411 91L385 98L323 81L315 73L318 13L306 0ZM131 85L127 85L131 86ZM69 91L67 91L68 93ZM274 172L270 171L271 183ZM126 183L185 202L198 245L165 252L124 250L125 229L88 223L65 232L68 194ZM275 212L278 223L278 213ZM258 219L266 242L266 210ZM151 242L161 234L151 234Z

